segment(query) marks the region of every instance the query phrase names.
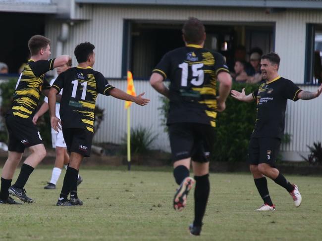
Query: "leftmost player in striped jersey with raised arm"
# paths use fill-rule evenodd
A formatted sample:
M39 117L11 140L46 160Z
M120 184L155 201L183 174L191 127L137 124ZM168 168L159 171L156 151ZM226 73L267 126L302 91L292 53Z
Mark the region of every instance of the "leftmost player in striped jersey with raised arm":
M54 59L48 59L51 55L50 40L41 35L31 37L28 41L28 48L31 57L20 74L12 107L5 117L9 135L8 159L2 169L0 203L17 204L9 197L9 193L23 202L34 202L26 195L24 186L34 168L46 156L46 149L32 118L40 93L47 95L50 89L50 85L45 79L45 73L66 64L70 58L68 55L61 55ZM17 181L11 186L14 171L26 147L29 147L31 154L22 164Z

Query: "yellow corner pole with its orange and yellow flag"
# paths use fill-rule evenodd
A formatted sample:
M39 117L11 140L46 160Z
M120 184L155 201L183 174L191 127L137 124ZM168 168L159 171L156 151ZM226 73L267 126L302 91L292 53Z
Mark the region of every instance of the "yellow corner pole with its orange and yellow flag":
M127 71L127 90L126 94L136 96L133 76L130 71ZM131 170L131 122L130 122L130 106L131 101L125 101L124 107L127 109L127 170Z

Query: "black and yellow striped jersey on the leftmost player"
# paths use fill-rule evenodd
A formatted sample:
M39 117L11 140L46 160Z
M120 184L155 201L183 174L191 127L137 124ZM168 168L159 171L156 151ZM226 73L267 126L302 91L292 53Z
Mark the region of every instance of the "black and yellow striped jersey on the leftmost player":
M45 73L52 69L54 59L28 61L16 84L12 108L8 114L25 119L35 114L40 92L51 87L45 79Z

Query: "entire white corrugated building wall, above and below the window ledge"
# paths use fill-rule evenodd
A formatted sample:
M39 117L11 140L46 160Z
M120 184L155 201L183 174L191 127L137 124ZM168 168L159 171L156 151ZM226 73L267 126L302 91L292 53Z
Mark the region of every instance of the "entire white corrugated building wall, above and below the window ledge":
M321 10L288 9L285 12L266 14L264 9L254 8L203 8L203 7L166 7L166 6L110 6L94 5L92 19L74 22L70 28L69 40L64 46L64 53L73 54L75 46L89 41L96 46L95 69L109 78L120 78L122 68L123 20L139 19L153 21L185 21L190 16L208 23L275 23L275 51L281 57L279 73L295 83L304 82L306 24L322 24ZM84 13L85 14L85 13ZM85 14L86 16L88 15ZM76 13L75 16L82 14ZM52 39L52 52L55 52L57 32L60 22L48 20L46 35ZM74 63L76 59L73 57ZM116 87L125 90L125 81L111 81ZM137 93L146 91L151 104L146 107L133 106L132 127L142 124L153 127L157 133L156 148L168 149L167 136L160 126L160 106L158 95L148 82L136 82ZM313 87L307 87L313 88ZM320 102L319 102L320 101ZM292 134L292 142L282 146L285 159L299 159L297 152L308 151L306 145L319 141L322 129L318 125L321 120L321 98L312 101L290 103L287 109L286 132ZM122 101L113 98L98 98L100 107L106 108L106 119L96 142L120 143L126 131L126 112Z

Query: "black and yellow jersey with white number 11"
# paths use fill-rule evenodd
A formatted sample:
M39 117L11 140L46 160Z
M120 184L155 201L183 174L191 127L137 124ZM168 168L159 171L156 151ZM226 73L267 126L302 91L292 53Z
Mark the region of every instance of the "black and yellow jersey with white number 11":
M91 67L79 66L62 72L52 88L64 89L60 101L62 128L82 128L94 132L94 109L98 94L109 95L107 79Z

